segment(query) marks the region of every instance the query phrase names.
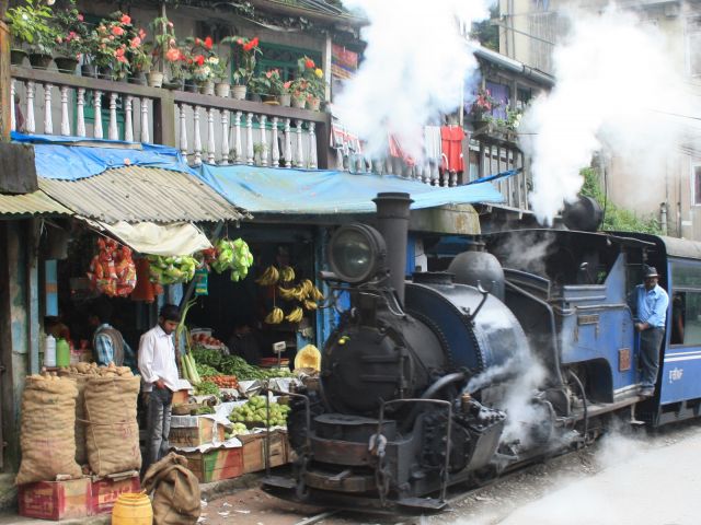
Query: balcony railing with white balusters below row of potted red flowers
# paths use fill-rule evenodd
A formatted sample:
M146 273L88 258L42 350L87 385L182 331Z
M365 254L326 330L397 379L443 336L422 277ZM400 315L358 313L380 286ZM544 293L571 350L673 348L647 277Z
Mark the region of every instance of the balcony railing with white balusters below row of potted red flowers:
M12 67L12 130L177 148L187 162L329 166L329 115Z

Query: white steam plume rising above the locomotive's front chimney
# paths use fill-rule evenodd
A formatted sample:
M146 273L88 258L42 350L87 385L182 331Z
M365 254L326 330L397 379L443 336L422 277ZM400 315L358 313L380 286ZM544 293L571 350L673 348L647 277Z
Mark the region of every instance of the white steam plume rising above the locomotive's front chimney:
M422 127L460 106L466 79L478 70L460 28L489 18L493 0L344 0L365 13L367 43L357 74L334 101L334 114L386 156L388 133L423 158Z

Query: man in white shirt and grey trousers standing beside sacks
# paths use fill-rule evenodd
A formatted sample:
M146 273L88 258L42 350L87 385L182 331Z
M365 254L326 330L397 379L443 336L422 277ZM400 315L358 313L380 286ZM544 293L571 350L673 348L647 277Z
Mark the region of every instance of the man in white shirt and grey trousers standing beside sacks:
M180 310L173 304L161 307L158 325L141 336L139 372L147 394L147 442L142 471L168 454L171 430L171 404L177 389L177 364L173 332L180 323Z

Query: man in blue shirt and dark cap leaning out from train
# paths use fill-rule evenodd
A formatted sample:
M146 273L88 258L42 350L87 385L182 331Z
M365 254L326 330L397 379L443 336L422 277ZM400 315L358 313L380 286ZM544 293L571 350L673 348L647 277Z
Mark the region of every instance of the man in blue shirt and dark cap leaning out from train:
M657 270L648 266L645 269L643 284L635 287L635 306L637 322L635 329L640 331L640 362L642 366L641 395L651 397L655 393L657 370L659 369L659 347L665 336L665 319L669 298L657 284Z

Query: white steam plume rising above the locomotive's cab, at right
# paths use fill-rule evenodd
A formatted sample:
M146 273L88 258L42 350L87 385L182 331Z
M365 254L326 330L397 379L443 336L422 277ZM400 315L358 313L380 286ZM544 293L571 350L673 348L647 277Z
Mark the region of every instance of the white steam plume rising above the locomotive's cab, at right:
M665 36L630 12L570 15L571 32L553 54L555 86L522 119L521 145L532 158L531 202L551 224L582 186L595 152L614 154L643 185L659 177L699 100L685 86L682 60Z

